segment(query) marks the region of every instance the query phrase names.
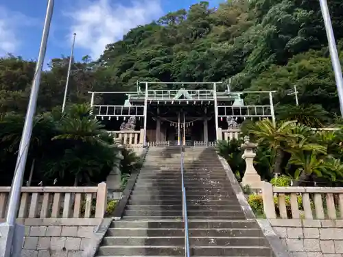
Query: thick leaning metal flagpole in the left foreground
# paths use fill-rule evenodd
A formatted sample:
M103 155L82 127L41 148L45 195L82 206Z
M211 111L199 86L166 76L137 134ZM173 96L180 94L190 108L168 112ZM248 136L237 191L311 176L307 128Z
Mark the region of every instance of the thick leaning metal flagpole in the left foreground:
M34 114L36 113L38 90L40 86L40 75L43 69L45 52L47 49L47 38L49 37L49 29L53 11L54 0L49 0L47 3L47 14L45 16L43 36L40 42L39 56L36 64L34 81L32 82L31 95L29 97L29 103L27 106L23 134L21 136L21 143L19 145L18 158L16 159L16 169L14 171L14 178L12 180L10 197L8 200L8 212L6 215L6 223L8 223L9 225L15 225L16 222L16 212L19 207L19 200L21 197L21 186L23 184L25 164L27 160L27 153L29 151L29 140L31 139Z

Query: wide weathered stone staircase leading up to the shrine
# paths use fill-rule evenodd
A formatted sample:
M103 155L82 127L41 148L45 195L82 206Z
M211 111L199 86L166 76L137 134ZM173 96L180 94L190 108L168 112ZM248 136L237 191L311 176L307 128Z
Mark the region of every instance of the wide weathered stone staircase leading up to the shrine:
M256 221L247 220L215 150L185 149L191 256L273 256ZM185 256L180 148L150 148L121 221L97 256Z

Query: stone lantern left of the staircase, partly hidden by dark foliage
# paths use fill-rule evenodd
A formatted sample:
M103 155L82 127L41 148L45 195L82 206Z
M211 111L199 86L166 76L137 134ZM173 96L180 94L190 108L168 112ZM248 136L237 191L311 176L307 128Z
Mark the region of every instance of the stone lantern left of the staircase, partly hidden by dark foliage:
M121 149L123 149L123 145L117 141L117 146L119 148L119 153L117 155L117 159L115 164L113 165L112 171L108 174L106 178L106 185L108 191L108 198L109 199L119 199L120 198L120 191L121 191L121 171L120 171L120 162L123 160L123 155L121 154Z

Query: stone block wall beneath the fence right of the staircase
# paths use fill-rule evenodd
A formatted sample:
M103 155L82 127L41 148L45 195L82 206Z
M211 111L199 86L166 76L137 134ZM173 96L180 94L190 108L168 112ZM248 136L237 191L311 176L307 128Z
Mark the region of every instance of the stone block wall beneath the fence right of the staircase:
M343 220L269 221L292 257L343 257Z

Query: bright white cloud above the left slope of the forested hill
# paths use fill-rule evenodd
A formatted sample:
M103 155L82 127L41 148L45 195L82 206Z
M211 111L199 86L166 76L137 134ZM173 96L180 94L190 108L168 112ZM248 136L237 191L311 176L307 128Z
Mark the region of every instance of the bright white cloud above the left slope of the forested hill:
M130 29L150 23L161 14L163 10L158 0L133 1L129 5L111 4L110 0L87 1L69 12L69 35L75 32L75 47L90 51L95 59L107 44L120 40Z

